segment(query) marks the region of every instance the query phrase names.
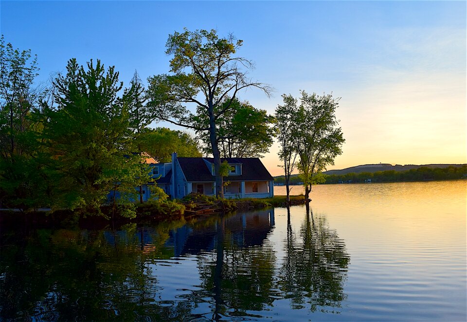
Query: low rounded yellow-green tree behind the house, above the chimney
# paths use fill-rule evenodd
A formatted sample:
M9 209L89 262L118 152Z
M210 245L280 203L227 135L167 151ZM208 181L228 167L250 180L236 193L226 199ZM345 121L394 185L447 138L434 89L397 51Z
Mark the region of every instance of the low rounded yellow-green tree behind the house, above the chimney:
M138 146L158 162L170 162L174 151L181 157L202 156L194 137L168 128L145 129L138 137Z

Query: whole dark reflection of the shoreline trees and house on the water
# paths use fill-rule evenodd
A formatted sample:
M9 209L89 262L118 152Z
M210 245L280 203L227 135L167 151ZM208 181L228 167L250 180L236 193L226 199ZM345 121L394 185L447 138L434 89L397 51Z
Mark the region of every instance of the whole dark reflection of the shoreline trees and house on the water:
M0 318L218 321L270 319L278 300L339 307L345 246L324 218L304 217L293 231L288 216L283 244L269 239L274 209L154 227L3 230Z

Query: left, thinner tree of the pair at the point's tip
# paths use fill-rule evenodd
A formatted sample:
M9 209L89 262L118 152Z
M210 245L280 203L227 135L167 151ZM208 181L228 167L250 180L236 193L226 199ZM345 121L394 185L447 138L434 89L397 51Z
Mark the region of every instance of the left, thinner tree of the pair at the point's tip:
M295 160L297 152L294 147L294 124L293 114L297 105L297 100L292 96L282 95L284 98L284 105L279 105L275 111L277 138L279 140L280 150L278 152L279 159L284 162L281 165L284 168L286 191L287 191L287 204L290 202L290 176L295 169Z

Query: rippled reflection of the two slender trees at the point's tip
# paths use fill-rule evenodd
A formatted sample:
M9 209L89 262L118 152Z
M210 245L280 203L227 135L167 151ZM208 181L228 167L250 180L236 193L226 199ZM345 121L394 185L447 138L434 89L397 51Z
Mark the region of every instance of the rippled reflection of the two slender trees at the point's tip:
M350 258L343 241L336 231L327 227L324 217L315 218L306 207L305 221L296 236L287 209L285 255L279 288L293 308L308 304L314 312L319 307L321 310L341 307L341 301L346 298L343 282Z

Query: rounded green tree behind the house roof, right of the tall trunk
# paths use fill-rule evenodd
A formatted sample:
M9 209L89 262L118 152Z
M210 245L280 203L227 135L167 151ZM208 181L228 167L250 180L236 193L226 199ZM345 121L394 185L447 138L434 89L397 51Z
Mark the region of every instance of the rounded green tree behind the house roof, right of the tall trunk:
M230 108L216 122L221 157L261 157L269 152L276 136L274 128L270 126L274 123L274 117L265 110L255 109L248 102L240 102L237 98L232 102L227 98L219 108L223 109L225 104L230 104ZM200 134L204 152L212 154L209 134Z

